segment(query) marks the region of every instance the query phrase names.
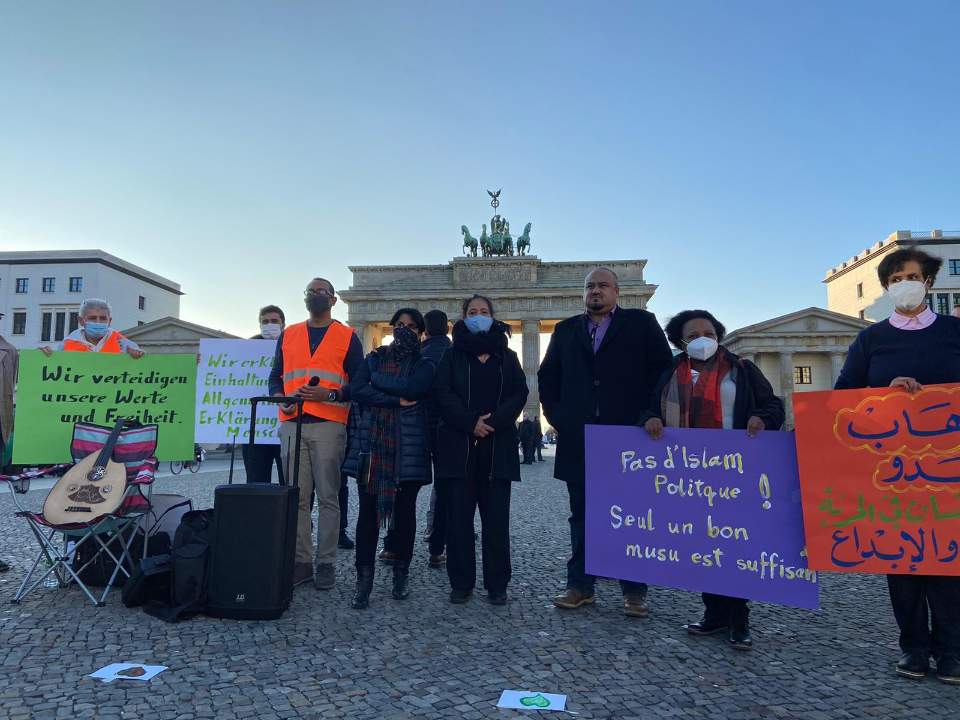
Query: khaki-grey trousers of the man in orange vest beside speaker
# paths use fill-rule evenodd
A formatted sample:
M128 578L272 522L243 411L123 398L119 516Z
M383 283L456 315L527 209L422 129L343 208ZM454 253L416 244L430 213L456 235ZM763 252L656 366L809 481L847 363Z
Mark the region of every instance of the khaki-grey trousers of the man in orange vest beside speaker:
M280 423L284 474L293 478L296 424ZM340 466L347 444L347 427L338 422L306 423L300 439L300 512L297 517L298 563L333 564L340 534ZM289 463L289 467L287 467ZM317 494L317 550L310 537L310 496Z

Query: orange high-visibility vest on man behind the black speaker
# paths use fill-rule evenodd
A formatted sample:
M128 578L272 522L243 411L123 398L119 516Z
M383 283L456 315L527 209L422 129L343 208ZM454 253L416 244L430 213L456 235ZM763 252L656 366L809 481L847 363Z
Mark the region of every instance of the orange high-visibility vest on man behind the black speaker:
M310 378L319 379L320 387L339 390L347 382L347 373L343 364L347 359L353 330L334 320L327 326L323 340L316 352L310 354L310 336L307 323L288 325L283 331L283 394L287 397L309 382ZM306 415L347 424L350 403L305 402L303 412ZM284 412L279 408L281 420L293 420L296 412Z

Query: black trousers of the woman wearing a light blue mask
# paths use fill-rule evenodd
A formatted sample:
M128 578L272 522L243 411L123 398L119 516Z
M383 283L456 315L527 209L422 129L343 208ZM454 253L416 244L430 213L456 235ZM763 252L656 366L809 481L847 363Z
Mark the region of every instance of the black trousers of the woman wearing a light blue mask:
M473 520L480 509L483 585L487 592L504 592L513 568L510 564L509 480L490 477L492 453L474 457L467 476L445 478L448 502L447 577L454 590L468 592L477 584L477 549Z

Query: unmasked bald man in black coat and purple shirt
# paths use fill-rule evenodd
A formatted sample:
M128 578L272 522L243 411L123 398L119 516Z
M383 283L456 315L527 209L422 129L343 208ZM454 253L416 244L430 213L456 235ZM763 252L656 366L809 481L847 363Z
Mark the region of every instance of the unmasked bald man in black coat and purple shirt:
M567 589L554 605L593 602L594 578L584 568L584 425L636 425L672 353L656 318L617 305L617 275L596 268L584 281L586 312L557 324L537 378L540 402L558 433L554 477L570 495ZM646 617L647 586L621 580L624 612Z

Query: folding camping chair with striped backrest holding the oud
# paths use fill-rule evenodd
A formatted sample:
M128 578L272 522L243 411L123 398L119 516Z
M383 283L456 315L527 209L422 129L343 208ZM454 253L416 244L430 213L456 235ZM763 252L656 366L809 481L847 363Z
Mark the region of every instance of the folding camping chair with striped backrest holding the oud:
M76 463L94 452L99 452L106 444L111 428L77 423L73 428L73 440L70 453ZM134 558L131 556L131 541L145 513L150 510L158 461L153 456L157 448L157 426L136 425L121 431L113 451L112 459L126 466L127 491L123 503L113 513L92 518L87 522L53 524L44 518L42 512L33 512L24 508L17 495L24 495L30 488L30 480L54 471L66 470L70 464L35 470L21 475L2 476L10 484L13 500L17 506L17 517L27 521L37 540L40 551L30 571L13 597L14 604L35 588L39 587L51 573L60 587L75 582L84 594L97 607L106 603L107 595L117 582L120 573L130 577L134 570ZM93 545L95 552L80 567L74 567L74 558L85 545ZM146 542L143 552L146 555ZM104 556L113 562L113 572L103 588L99 598L90 590L89 582L81 575Z

